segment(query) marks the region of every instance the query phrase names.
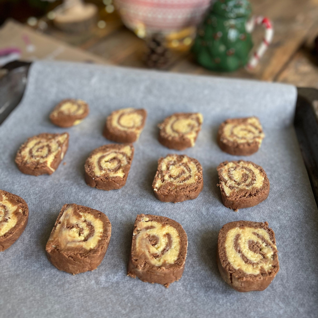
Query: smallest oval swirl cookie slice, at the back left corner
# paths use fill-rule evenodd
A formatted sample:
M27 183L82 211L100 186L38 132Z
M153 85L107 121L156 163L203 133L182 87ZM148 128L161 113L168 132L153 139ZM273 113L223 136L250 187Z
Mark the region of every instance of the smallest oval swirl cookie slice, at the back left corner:
M84 100L62 100L50 114L50 120L59 127L78 125L88 115L89 107Z

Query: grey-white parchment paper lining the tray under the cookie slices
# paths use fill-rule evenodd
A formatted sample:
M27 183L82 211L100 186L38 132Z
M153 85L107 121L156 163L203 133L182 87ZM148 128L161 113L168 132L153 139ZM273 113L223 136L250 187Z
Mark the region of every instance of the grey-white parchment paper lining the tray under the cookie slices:
M53 126L48 115L63 98L81 98L91 113L80 125ZM315 317L318 309L317 206L292 126L294 86L139 71L61 62L35 62L20 105L0 126L0 189L23 197L29 224L0 253L2 317ZM89 153L106 143L105 118L121 107L143 107L146 126L135 146L126 186L103 191L84 180ZM194 148L174 151L157 141L156 125L173 112L201 112L204 123ZM256 115L266 137L249 157L223 153L218 125L230 117ZM51 176L22 174L14 163L27 137L43 132L70 134L63 162ZM151 189L157 160L168 153L196 158L204 189L195 200L158 201ZM261 165L270 180L263 203L234 212L223 206L216 167L239 158ZM45 244L65 203L107 214L112 237L97 270L71 275L47 260ZM127 262L138 213L176 220L189 246L182 278L168 289L127 277ZM221 278L217 236L227 222L268 221L279 250L280 271L262 292L239 293Z

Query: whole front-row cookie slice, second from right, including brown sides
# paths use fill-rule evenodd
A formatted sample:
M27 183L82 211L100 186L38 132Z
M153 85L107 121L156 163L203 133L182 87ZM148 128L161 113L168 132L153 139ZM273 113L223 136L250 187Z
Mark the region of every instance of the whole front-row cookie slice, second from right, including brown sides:
M188 238L183 227L166 217L137 215L128 275L169 287L182 276Z

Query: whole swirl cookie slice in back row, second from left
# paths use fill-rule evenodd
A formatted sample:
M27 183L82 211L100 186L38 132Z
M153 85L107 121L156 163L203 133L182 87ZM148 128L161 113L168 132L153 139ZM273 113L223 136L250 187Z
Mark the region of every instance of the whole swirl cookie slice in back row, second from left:
M135 142L145 126L146 117L145 109L115 110L107 117L103 135L115 142Z

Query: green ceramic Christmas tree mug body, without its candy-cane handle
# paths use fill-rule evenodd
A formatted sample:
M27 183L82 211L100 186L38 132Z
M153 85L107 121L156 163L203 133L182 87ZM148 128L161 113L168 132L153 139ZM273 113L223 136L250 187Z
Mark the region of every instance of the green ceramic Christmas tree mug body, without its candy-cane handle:
M250 14L247 0L217 0L192 47L197 62L213 71L234 71L244 66L253 46L251 34L245 29Z

